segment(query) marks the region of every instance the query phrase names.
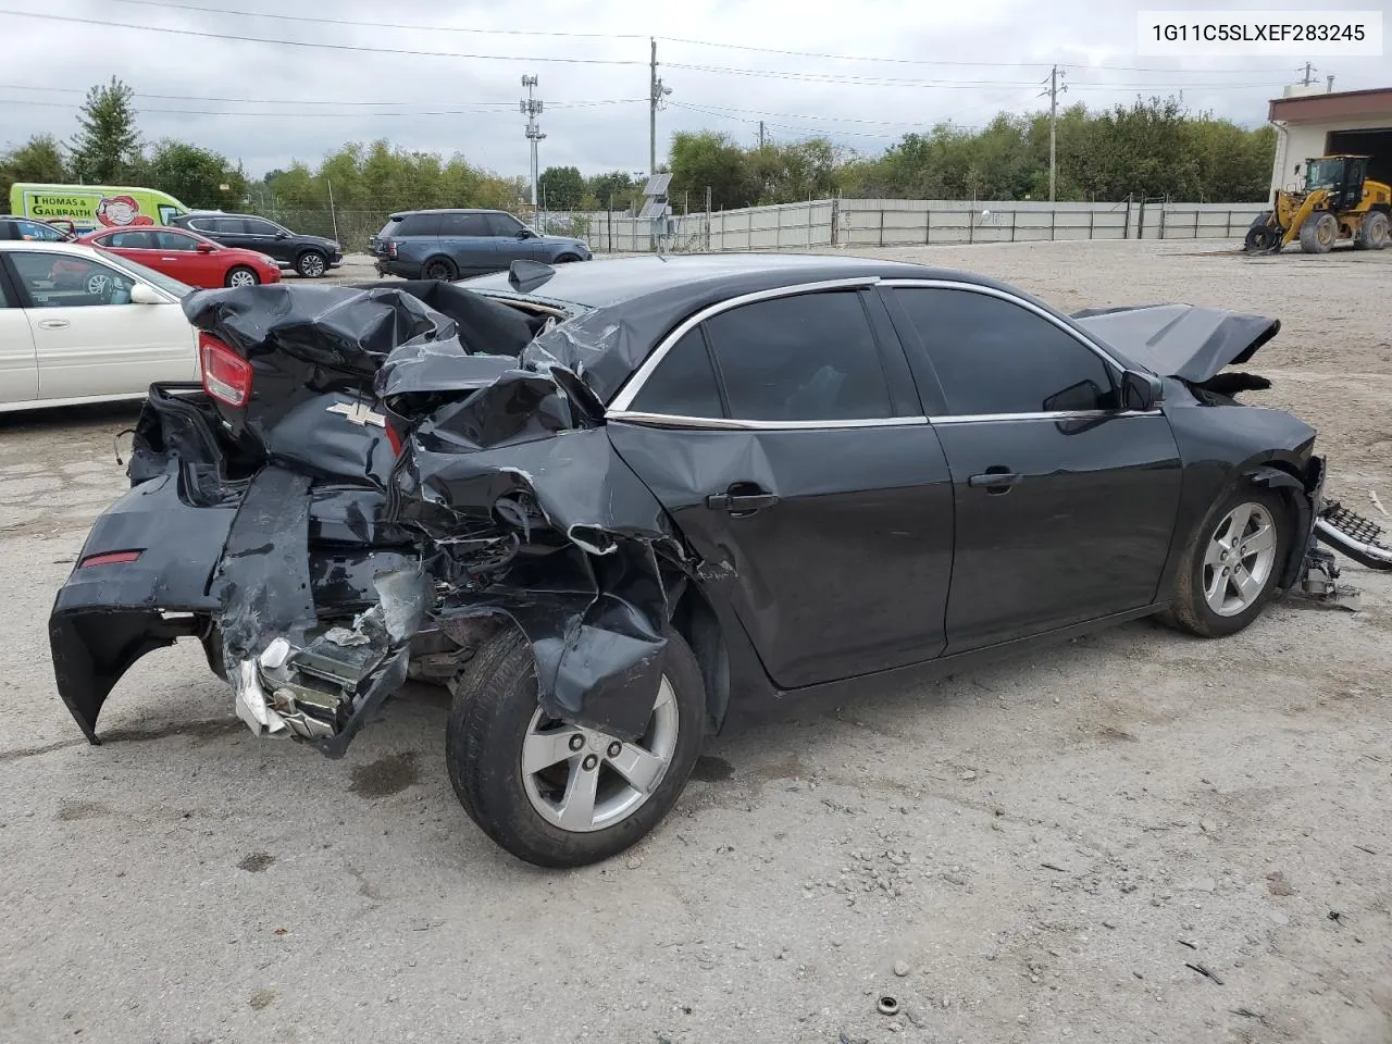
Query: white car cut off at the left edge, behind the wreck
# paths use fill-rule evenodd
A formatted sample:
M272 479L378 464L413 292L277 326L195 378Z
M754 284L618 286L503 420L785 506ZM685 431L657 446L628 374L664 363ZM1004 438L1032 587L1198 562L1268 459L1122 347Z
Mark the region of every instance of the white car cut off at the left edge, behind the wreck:
M0 241L0 412L142 398L198 380L192 288L70 242Z

